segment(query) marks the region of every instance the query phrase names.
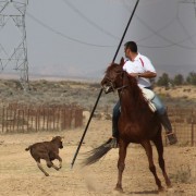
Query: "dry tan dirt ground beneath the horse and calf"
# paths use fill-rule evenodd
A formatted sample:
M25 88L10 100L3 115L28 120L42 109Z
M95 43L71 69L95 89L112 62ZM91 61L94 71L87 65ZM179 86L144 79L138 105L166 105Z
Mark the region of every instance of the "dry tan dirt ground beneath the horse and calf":
M84 125L85 126L85 125ZM91 120L73 169L71 162L83 135L84 127L63 132L12 134L0 136L0 196L108 196L121 195L114 191L118 177L118 149L112 149L99 162L82 168L83 152L101 145L111 134L111 121ZM25 148L37 142L50 140L52 136L64 136L64 148L60 150L63 166L60 171L44 168L45 176ZM158 175L166 187L158 167L157 152L154 159ZM164 147L164 160L173 187L158 193L152 174L148 170L145 151L131 144L126 168L123 173L123 195L196 195L196 148ZM56 162L57 163L57 162Z

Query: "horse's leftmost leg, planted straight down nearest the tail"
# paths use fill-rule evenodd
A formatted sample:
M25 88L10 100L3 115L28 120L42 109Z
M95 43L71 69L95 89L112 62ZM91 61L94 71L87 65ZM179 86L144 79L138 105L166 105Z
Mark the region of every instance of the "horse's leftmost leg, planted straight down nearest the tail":
M125 158L126 158L126 147L127 144L124 143L122 139L119 142L119 161L118 161L118 170L119 170L119 175L118 175L118 183L115 186L117 191L123 192L122 188L122 173L125 168Z

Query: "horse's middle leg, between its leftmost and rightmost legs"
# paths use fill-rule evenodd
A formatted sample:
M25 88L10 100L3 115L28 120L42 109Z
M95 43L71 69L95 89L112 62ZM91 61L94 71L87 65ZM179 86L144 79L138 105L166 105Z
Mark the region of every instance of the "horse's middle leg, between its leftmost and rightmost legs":
M156 180L156 184L159 188L159 191L162 191L163 187L161 185L161 182L159 180L159 177L157 176L157 172L156 172L156 167L154 164L154 159L152 159L152 148L151 148L151 145L150 145L150 142L149 140L145 140L144 143L142 143L142 146L145 148L146 150L146 155L148 157L148 162L149 162L149 170L150 172L154 174L155 176L155 180Z

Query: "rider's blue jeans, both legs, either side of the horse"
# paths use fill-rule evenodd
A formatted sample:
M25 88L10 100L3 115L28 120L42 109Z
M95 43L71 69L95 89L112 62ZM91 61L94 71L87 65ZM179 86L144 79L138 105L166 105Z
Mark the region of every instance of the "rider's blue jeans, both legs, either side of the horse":
M162 101L160 100L160 98L155 94L154 99L151 100L157 109L157 113L159 115L163 115L166 113L166 107L163 106ZM118 130L118 121L119 121L119 117L121 114L120 111L120 100L115 103L115 106L113 107L113 114L112 114L112 136L113 137L118 137L119 134L119 130Z

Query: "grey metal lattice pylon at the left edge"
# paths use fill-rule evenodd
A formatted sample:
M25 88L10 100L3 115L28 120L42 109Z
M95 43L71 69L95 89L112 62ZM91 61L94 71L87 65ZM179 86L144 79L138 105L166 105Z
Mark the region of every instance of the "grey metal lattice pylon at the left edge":
M0 72L5 68L19 71L24 89L28 87L25 29L27 4L28 0L0 0Z

